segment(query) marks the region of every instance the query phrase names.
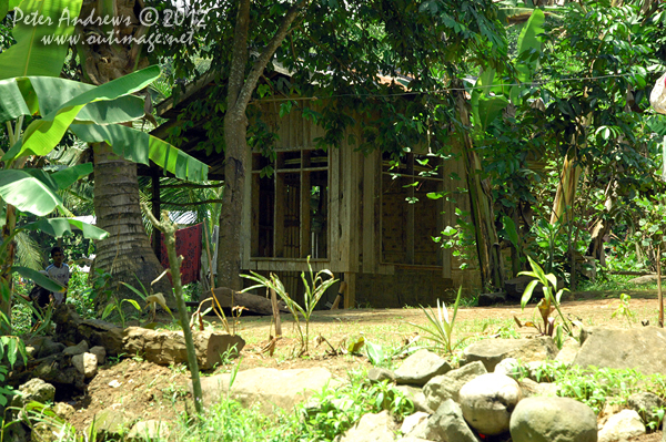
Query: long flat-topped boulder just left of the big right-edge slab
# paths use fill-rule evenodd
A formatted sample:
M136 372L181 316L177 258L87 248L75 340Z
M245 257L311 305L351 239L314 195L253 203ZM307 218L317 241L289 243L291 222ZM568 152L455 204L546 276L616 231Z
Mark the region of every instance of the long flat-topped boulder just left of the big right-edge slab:
M481 361L492 372L503 359L515 358L521 362L555 359L557 346L551 337L535 339L485 339L467 346L461 363Z

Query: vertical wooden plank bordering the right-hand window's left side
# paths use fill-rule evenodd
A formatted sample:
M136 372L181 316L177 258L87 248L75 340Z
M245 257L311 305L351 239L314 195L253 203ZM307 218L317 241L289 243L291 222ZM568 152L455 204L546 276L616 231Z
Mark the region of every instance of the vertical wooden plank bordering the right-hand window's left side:
M377 173L377 157L380 152L371 152L363 161L363 273L374 274L377 266L375 217L375 184Z

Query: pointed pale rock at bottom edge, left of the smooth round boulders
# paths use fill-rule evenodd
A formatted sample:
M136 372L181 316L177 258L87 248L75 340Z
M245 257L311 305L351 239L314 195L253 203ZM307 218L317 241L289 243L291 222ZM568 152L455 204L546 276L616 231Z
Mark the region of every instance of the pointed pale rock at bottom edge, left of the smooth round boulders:
M463 419L460 405L451 399L442 402L435 414L417 425L408 435L430 441L478 442Z

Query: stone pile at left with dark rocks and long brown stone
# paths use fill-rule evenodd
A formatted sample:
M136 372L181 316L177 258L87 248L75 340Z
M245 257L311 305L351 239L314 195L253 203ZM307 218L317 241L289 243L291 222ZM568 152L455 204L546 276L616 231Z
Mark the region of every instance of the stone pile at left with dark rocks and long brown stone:
M57 392L60 397L84 394L85 388L97 376L99 367L104 364L108 357L140 356L144 360L169 366L186 362L185 341L182 332L171 330L150 330L140 327L122 329L113 323L101 320L83 320L73 307L60 306L53 315L56 336L38 336L27 340L26 352L28 363L19 358L14 364L8 384L19 390L21 394L11 398L12 408L22 408L31 401L40 403L53 402ZM193 332L194 347L199 367L203 370L213 368L222 362L222 358L238 354L245 341L239 336L222 333ZM56 414L63 419L73 412L71 405L58 402ZM60 410L60 411L58 411ZM107 415L108 414L108 415ZM4 408L0 407L0 415ZM114 410L95 417L95 430L99 440L114 439L114 429L127 426L127 420ZM144 440L145 434L164 433L164 423L137 422L135 440ZM42 431L43 430L43 431ZM125 429L127 430L127 429ZM9 441L54 440L53 429L48 425L38 426L32 435L21 423L11 425L7 431ZM132 440L130 432L129 436ZM37 439L36 439L37 438Z

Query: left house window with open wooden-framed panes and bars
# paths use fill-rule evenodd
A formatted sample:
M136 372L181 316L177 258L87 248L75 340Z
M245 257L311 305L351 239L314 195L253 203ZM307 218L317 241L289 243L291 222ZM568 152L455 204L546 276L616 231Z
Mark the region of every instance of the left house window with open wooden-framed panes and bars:
M275 164L253 154L251 257L327 258L327 152L279 151Z

